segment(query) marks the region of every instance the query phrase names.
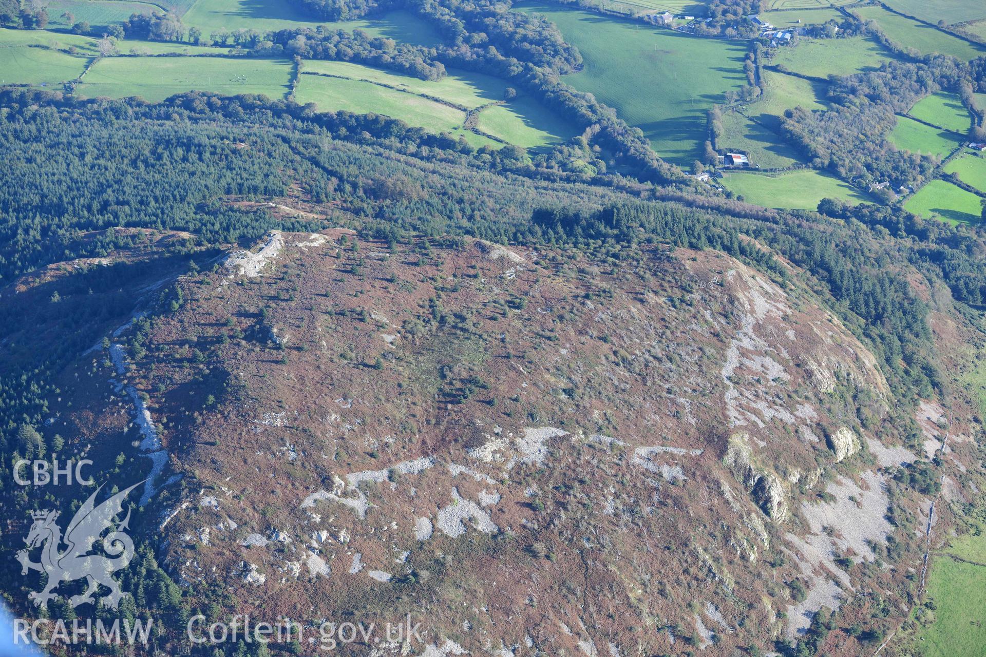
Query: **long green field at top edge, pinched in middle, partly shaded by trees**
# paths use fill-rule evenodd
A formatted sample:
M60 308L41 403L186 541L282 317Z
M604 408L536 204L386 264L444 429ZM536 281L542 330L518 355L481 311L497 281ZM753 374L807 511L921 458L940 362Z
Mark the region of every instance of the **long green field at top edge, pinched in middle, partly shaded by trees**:
M327 25L337 30L364 30L375 36L419 45L435 45L441 40L430 23L405 11L389 12L372 20L331 23L314 20L282 0L196 0L181 21L206 35L241 28L268 32Z

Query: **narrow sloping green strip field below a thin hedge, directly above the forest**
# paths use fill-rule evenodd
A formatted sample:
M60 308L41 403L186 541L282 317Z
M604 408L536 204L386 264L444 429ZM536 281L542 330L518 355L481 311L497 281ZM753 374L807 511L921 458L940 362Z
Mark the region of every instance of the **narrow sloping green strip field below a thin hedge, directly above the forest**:
M493 140L462 128L464 111L368 82L303 75L295 99L302 104L314 102L320 111L344 109L358 114L383 114L431 132L464 137L473 146L500 148Z

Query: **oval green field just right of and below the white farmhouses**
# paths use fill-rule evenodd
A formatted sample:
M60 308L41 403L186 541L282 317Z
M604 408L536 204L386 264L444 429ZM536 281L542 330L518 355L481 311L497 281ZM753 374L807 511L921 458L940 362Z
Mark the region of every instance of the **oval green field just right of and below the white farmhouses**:
M866 36L802 39L794 47L777 48L775 53L770 63L783 64L795 73L823 79L829 75L876 71L880 64L895 58L880 43Z

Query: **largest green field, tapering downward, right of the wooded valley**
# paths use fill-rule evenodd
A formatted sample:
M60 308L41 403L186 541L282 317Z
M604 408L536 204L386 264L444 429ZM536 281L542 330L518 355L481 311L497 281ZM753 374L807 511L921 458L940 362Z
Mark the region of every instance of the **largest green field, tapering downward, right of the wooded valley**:
M638 26L554 5L525 3L545 15L582 52L585 68L564 81L590 92L639 127L674 164L701 155L706 110L746 82L745 44ZM618 44L618 47L616 45Z

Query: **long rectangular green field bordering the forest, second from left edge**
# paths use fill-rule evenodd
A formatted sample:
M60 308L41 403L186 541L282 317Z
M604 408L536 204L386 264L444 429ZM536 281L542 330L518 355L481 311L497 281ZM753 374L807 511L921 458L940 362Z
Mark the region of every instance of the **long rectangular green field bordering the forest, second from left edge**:
M139 96L149 101L191 90L227 96L263 94L283 99L290 87L291 62L231 57L107 57L76 88L80 96L111 99Z

